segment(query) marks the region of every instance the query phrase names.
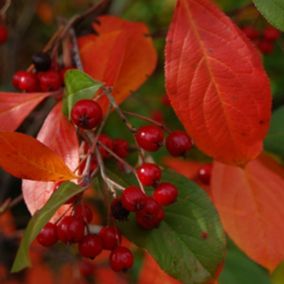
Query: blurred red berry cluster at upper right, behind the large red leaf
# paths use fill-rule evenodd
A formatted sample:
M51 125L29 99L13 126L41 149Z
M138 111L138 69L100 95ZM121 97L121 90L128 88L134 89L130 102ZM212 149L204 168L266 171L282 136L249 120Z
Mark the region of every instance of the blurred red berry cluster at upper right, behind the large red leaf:
M252 40L263 54L270 54L274 49L275 42L281 36L281 32L271 26L259 31L252 26L242 28L244 34Z

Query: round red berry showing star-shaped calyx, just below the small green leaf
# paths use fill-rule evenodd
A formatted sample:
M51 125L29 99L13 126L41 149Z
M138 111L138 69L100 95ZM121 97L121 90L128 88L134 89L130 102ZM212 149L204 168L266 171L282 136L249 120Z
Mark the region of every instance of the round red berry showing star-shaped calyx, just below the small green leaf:
M103 111L99 104L92 100L80 100L72 108L72 122L83 129L98 126L103 118Z

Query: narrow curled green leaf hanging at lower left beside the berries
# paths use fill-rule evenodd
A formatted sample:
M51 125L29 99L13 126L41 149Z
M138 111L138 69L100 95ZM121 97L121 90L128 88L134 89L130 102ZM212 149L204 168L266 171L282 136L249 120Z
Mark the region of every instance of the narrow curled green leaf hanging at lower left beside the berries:
M33 240L37 237L45 224L48 223L57 209L84 189L84 187L80 187L72 182L64 182L58 190L52 194L47 203L32 216L20 243L13 263L12 272L18 272L30 266L29 247Z

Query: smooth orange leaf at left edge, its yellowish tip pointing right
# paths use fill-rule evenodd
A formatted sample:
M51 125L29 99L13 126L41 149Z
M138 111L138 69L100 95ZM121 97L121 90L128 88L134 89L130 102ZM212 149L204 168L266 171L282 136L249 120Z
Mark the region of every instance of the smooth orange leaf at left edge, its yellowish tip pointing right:
M31 136L0 132L0 167L18 178L58 181L76 176L52 150Z

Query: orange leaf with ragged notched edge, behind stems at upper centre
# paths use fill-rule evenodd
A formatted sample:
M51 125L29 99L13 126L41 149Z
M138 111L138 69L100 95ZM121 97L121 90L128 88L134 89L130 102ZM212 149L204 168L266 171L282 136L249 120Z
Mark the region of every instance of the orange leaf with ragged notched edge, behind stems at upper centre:
M98 18L94 24L99 36L78 39L84 71L94 79L113 86L117 103L137 90L154 71L157 54L149 30L143 23L134 23L113 16ZM101 98L105 109L108 101Z

